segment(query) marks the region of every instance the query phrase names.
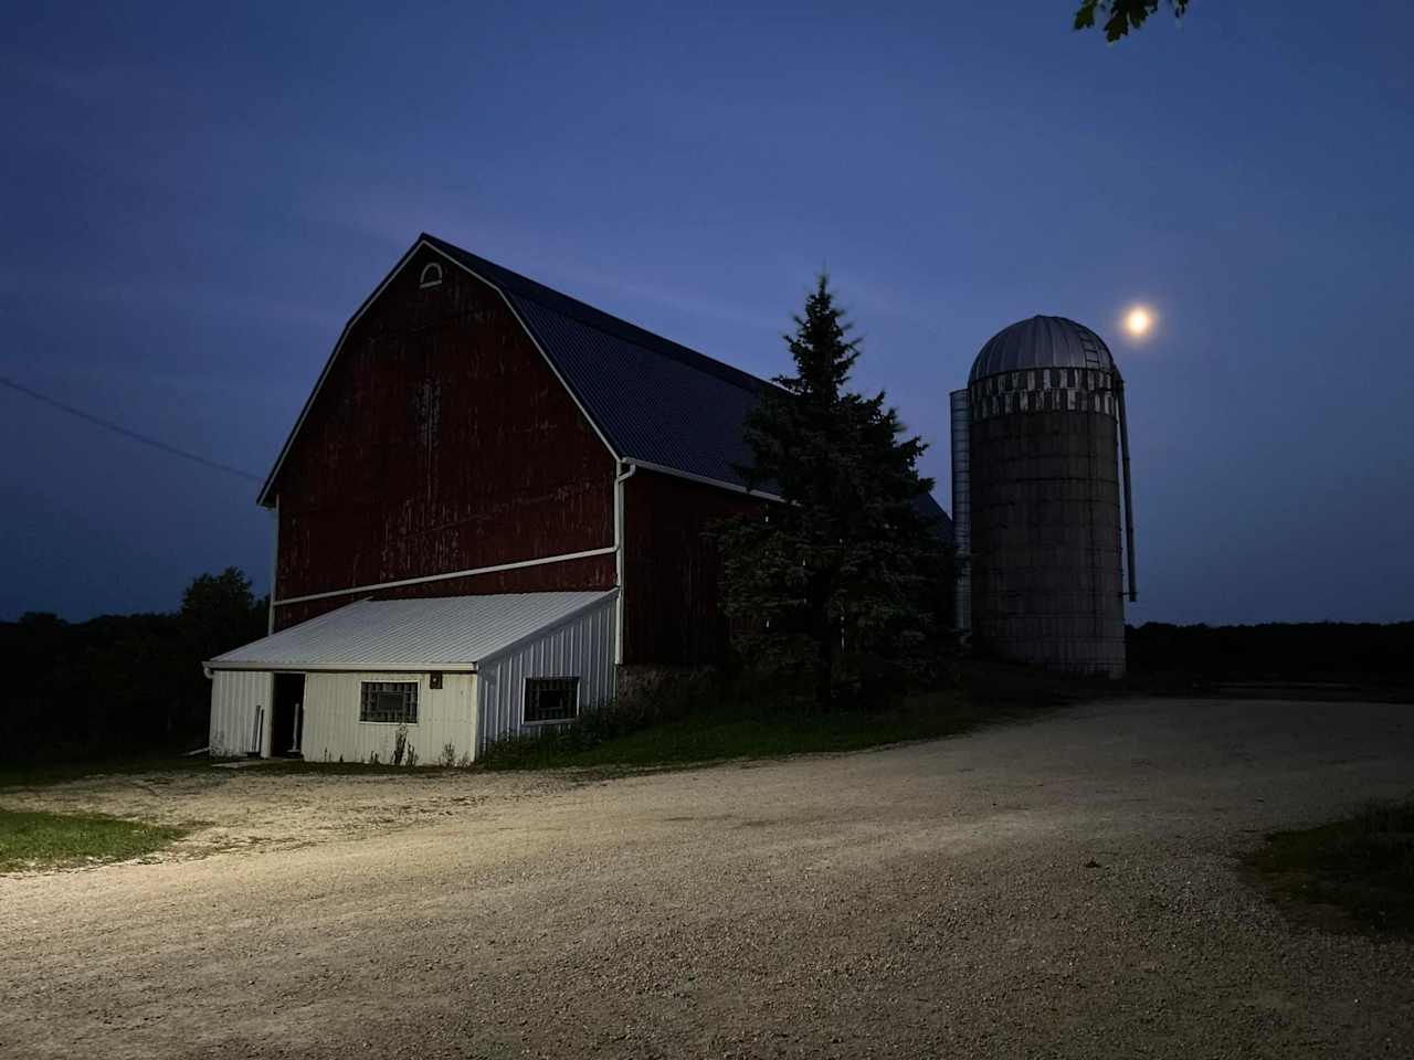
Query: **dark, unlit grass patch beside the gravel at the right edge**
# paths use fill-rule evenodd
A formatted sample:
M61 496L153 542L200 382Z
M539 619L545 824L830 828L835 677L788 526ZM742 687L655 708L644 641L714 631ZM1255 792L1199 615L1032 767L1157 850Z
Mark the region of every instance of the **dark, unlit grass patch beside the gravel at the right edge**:
M1414 800L1274 832L1249 866L1297 920L1414 936Z

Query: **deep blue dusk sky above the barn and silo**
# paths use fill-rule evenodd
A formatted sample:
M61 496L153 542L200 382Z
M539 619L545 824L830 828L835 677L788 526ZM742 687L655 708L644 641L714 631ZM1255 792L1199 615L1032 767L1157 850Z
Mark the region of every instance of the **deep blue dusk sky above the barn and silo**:
M1130 620L1414 618L1414 7L1073 6L7 6L0 375L263 478L420 230L759 375L823 267L945 507L981 343L1110 342ZM269 585L256 482L6 389L0 490L0 619Z

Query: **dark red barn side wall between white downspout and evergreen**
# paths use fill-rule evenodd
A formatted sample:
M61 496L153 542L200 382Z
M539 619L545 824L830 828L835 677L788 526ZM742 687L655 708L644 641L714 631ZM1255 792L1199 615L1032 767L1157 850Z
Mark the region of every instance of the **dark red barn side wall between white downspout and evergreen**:
M643 469L624 490L624 663L720 661L727 620L708 530L769 502Z

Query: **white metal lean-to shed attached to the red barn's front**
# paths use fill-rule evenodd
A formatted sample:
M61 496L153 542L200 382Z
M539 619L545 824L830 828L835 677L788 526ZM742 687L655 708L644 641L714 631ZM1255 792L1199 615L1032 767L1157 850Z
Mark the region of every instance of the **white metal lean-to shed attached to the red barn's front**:
M211 753L469 762L614 698L618 589L366 599L205 663Z

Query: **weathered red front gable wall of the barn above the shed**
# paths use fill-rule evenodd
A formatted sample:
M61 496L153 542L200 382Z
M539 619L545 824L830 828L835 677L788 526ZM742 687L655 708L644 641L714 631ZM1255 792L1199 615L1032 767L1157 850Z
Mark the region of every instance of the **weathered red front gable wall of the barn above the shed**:
M430 261L444 281L421 290ZM614 475L501 295L424 249L349 329L273 485L276 599L611 546ZM522 578L614 584L612 563ZM276 628L318 611L276 608Z

